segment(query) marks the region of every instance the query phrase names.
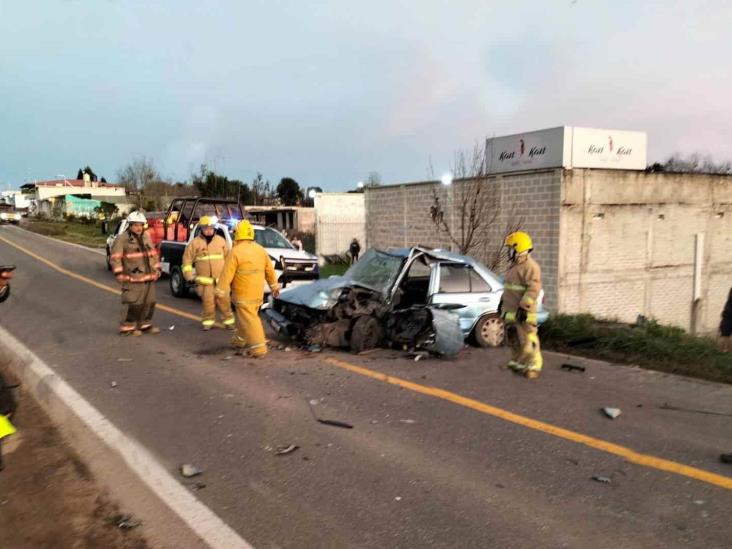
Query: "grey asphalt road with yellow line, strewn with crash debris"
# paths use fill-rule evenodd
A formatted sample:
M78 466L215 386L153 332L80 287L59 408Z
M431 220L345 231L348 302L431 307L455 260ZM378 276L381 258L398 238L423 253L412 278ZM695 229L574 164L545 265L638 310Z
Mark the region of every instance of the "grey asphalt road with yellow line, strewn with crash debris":
M99 254L14 227L0 237L116 284ZM729 386L577 359L587 371L568 373L553 354L527 381L500 368L503 349L254 362L231 357L227 333L165 311L160 335L121 338L118 296L3 240L0 263L18 266L0 323L170 471L203 468L197 497L257 547L731 545L732 467L718 462L732 451ZM198 313L158 284L159 303ZM354 428L317 423L316 400ZM300 448L274 455L289 444Z

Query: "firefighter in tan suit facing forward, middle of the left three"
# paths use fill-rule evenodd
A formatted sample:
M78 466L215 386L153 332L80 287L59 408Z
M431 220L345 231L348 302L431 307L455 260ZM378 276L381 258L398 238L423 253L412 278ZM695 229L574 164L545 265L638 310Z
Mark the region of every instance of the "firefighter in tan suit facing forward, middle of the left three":
M216 218L204 215L199 222L201 233L194 238L183 253L183 276L186 280L195 280L196 292L201 297L203 312L201 324L204 330L210 330L216 324L216 308L218 307L227 330L234 329L234 313L231 311L229 296L214 295L216 284L224 267L224 259L229 247L223 237L216 234ZM195 268L196 274L193 275Z

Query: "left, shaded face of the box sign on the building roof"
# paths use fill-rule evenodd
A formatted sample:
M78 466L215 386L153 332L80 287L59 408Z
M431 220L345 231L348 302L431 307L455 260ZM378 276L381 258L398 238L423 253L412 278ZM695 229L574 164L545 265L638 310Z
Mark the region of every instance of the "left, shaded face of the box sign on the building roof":
M564 146L571 143L559 127L536 132L494 137L486 141L488 173L518 172L555 168L562 165Z

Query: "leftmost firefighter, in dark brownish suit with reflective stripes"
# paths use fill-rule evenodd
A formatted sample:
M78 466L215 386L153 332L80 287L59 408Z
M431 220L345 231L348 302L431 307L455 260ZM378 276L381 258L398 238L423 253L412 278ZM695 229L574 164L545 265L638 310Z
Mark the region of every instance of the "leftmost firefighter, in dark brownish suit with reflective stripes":
M158 252L145 232L147 220L141 212L127 216L128 227L112 246L112 272L122 285L122 322L120 335L139 336L160 333L153 326L155 282L160 278Z

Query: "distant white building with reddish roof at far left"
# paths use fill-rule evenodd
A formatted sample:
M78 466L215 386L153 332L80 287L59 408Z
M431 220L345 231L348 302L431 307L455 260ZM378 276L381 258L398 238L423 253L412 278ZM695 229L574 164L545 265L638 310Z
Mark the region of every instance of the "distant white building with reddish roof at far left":
M29 197L34 213L47 216L60 216L63 213L79 213L87 215L88 204L79 200L67 200L73 196L80 200L91 200L98 203L108 202L115 204L120 213L124 214L134 208L128 202L125 188L111 183L91 181L85 174L81 179L55 179L50 181L36 181L26 183L21 187L25 196Z

